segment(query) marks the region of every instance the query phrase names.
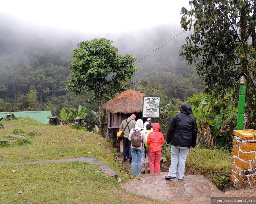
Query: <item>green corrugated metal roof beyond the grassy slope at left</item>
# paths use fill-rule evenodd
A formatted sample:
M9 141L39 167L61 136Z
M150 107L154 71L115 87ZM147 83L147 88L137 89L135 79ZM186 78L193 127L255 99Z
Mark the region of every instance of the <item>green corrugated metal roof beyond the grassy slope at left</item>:
M0 112L0 118L4 118L6 113L9 112ZM40 123L47 125L49 123L49 118L51 117L51 111L20 111L20 112L11 112L15 117L29 117L37 120Z

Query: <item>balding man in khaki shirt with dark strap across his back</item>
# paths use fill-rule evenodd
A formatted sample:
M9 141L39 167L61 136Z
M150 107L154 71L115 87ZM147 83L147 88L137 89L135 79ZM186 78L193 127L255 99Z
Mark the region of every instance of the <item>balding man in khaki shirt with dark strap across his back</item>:
M120 127L119 127L119 131L123 131L124 132L124 143L123 143L123 161L126 161L126 154L127 154L127 146L129 145L129 163L132 163L132 154L131 154L131 141L128 140L130 131L132 128L135 127L135 118L136 116L134 114L132 114L129 118L125 119L122 121Z

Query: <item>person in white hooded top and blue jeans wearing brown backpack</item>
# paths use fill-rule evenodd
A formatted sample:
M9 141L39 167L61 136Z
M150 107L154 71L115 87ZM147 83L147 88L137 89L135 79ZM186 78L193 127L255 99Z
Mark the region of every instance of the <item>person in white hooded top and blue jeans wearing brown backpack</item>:
M144 143L147 142L146 132L142 129L143 121L138 119L135 128L131 129L129 134L129 141L131 141L131 153L132 153L132 175L136 176L136 157L137 157L137 174L141 171L141 158L144 148Z

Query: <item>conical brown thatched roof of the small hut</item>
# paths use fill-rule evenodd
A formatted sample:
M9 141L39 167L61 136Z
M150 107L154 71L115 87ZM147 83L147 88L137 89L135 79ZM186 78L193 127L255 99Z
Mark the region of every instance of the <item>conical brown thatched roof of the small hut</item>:
M102 108L115 113L139 113L142 112L143 93L129 89L119 93L115 98L104 103Z

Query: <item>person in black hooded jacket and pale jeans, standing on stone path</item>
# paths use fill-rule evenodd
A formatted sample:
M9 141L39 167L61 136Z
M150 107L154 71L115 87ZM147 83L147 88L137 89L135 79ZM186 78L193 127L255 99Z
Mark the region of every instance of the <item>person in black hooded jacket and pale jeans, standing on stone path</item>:
M190 104L183 103L180 112L173 116L169 125L166 142L172 145L172 159L166 179L176 178L176 173L178 180L183 179L189 148L196 146L197 123L191 113Z

